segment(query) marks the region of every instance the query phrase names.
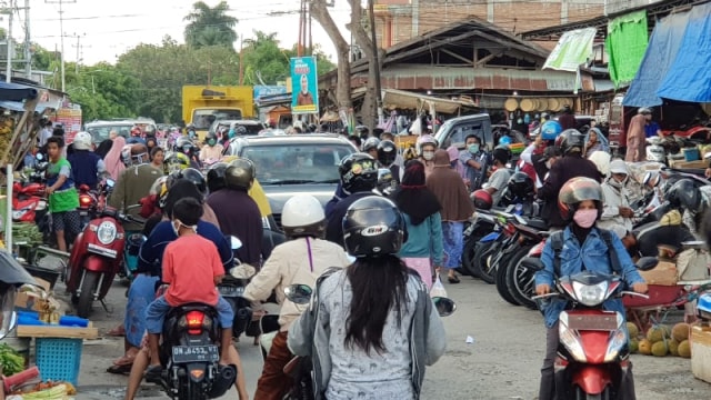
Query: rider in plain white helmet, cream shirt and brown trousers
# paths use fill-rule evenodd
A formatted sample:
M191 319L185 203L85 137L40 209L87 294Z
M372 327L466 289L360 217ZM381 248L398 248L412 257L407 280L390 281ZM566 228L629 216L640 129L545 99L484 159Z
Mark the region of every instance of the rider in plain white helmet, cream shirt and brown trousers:
M251 301L267 300L274 291L281 304L280 330L264 360L256 400L281 400L293 386L291 377L283 372L293 358L287 347L287 336L289 327L304 308L284 299L283 288L291 284L314 287L317 278L328 268L350 264L343 249L323 240L326 216L321 202L313 196L298 194L289 199L281 223L288 241L274 248L261 271L244 289L244 298Z

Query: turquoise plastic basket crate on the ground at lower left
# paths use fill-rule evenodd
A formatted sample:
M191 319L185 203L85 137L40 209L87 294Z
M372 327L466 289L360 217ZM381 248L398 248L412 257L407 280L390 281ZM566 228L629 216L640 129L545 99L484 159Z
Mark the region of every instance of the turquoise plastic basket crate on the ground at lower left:
M43 381L68 381L74 387L81 366L81 339L37 338L37 368Z

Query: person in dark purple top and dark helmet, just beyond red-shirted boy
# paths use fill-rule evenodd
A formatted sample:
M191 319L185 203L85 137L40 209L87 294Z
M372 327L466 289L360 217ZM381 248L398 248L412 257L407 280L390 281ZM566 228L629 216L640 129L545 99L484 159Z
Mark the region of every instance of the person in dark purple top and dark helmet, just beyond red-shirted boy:
M237 237L241 262L259 267L262 253L262 219L259 207L249 197L254 183L254 163L246 158L229 163L224 170L226 188L210 193L207 203L214 210L222 233Z

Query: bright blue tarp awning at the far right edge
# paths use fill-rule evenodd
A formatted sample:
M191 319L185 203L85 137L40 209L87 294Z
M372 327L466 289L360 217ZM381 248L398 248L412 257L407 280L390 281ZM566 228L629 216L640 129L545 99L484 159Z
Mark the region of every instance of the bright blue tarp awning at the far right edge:
M657 96L665 99L711 102L711 3L688 12L678 57L662 79Z

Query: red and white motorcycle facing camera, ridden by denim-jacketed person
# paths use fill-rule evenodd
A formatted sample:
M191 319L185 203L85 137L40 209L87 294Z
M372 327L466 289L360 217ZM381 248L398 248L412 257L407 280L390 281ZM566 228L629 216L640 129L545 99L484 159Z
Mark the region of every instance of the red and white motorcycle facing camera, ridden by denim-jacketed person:
M543 262L524 258L521 263L532 271L543 269ZM653 257L641 258L637 268L650 270L657 266ZM555 393L561 399L617 399L621 382L630 368L628 332L624 316L605 311L608 299L625 294L648 298L623 290L620 277L582 271L557 279L557 292L535 296L545 301L562 297L571 307L559 317L560 343L555 360Z

